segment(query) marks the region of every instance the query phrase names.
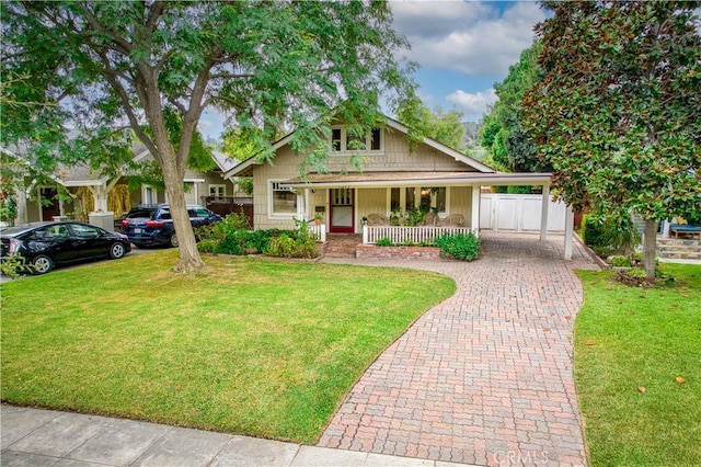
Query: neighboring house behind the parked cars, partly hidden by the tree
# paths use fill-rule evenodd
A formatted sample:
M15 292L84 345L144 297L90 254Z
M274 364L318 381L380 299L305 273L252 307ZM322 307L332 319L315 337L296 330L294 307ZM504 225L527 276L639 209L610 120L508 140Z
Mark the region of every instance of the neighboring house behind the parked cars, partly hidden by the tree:
M7 149L2 149L3 156L18 161L16 166L21 167L22 157ZM148 150L140 147L135 150L134 160L139 162L151 158ZM229 158L222 152L214 151L214 160L217 168L208 173L195 172L187 170L185 173L185 200L188 204L206 205L210 202L217 204L218 214L229 214L233 209L230 200L237 200L239 205L250 203L244 193L238 190L235 180L225 180L223 173L230 170L238 161ZM16 204L18 217L16 224L35 223L43 220L51 220L60 217L81 218L88 216L85 220L101 227L112 229L113 218L119 217L124 213L113 213L108 208L108 198L111 193L117 185L127 185L128 173L122 173L116 176L101 175L87 166L61 167L51 174L50 183L39 182L26 176L23 186L18 186ZM57 196L61 190L66 189L69 197ZM91 195L90 209L83 205L83 196L85 190ZM129 206L139 204L157 204L166 203L168 198L162 190L152 186L141 185L140 187L129 190ZM217 203L218 202L218 203ZM88 203L87 203L88 204ZM223 204L223 207L222 207ZM127 209L128 207L127 206ZM211 208L211 206L209 206ZM227 212L227 208L230 208ZM89 213L87 210L90 210Z

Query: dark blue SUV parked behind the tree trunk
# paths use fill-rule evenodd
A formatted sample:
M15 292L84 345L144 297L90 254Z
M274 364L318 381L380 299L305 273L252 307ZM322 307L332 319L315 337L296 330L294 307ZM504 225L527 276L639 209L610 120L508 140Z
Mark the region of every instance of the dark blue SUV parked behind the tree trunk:
M207 226L221 220L221 216L203 206L187 205L193 227ZM122 231L136 247L170 244L177 247L177 236L168 204L139 205L122 220Z

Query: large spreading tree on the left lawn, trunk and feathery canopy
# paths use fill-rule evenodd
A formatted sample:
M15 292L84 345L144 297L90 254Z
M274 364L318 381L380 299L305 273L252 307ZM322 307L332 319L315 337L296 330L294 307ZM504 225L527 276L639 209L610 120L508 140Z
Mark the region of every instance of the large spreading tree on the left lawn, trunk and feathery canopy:
M3 2L2 19L3 80L24 78L9 93L57 104L19 112L3 144L95 164L138 139L163 173L182 272L203 265L183 178L205 109L223 112L263 158L275 132L295 126L303 167L323 166L329 110L367 127L383 92L395 91L392 102L413 89L387 2ZM71 150L47 150L69 139L64 128Z

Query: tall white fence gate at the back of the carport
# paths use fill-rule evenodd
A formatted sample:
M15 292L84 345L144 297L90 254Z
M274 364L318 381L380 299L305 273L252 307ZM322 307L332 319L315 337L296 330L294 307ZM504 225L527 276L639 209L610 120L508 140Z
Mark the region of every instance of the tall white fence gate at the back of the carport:
M480 228L516 232L540 231L542 195L483 193L480 201ZM550 198L548 231L564 232L567 206Z

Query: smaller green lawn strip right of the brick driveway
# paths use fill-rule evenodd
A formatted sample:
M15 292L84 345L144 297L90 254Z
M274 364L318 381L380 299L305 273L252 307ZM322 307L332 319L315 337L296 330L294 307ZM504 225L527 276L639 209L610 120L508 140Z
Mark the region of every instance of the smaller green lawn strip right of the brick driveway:
M663 271L677 283L578 273L575 379L593 466L701 465L701 266Z

